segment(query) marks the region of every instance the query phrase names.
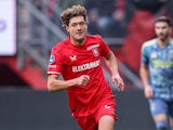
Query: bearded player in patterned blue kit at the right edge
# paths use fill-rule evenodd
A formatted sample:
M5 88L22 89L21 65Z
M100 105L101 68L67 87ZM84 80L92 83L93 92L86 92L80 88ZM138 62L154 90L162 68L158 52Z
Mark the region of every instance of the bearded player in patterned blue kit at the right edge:
M157 130L173 130L173 39L171 21L156 20L157 38L142 47L141 78ZM170 122L169 122L170 119Z

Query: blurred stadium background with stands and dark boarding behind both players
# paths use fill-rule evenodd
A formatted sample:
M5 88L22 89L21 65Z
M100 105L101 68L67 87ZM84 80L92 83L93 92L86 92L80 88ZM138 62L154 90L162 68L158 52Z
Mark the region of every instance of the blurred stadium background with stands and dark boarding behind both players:
M138 76L142 43L159 15L173 20L173 0L0 0L0 130L79 130L65 92L46 91L51 48L67 37L61 12L88 9L89 34L99 34L118 57L125 91L117 95L117 130L155 130Z

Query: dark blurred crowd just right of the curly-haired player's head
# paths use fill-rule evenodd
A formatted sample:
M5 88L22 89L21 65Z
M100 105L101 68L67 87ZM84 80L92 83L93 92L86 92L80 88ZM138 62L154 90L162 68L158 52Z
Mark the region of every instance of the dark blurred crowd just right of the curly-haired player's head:
M127 0L88 0L85 6L89 13L89 32L103 37L124 37L127 25L135 11Z

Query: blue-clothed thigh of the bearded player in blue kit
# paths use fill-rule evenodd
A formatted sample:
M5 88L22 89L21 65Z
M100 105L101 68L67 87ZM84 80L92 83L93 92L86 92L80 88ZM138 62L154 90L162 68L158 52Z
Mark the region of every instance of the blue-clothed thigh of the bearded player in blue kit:
M161 99L150 99L149 100L149 107L152 117L160 115L160 114L168 114L168 104L164 100Z

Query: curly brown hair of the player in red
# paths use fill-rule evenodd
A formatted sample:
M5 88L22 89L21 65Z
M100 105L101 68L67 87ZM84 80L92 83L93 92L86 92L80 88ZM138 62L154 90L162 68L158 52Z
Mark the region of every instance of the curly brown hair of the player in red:
M63 26L69 24L70 18L75 16L83 16L84 21L86 21L86 10L82 5L72 5L71 8L68 8L61 14L61 18L63 22Z

